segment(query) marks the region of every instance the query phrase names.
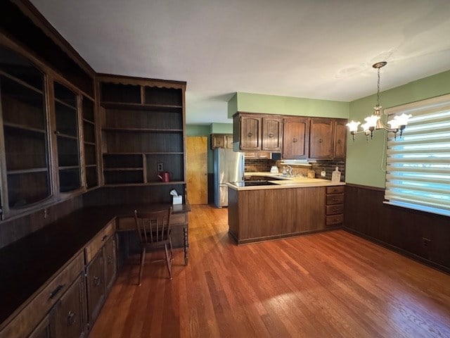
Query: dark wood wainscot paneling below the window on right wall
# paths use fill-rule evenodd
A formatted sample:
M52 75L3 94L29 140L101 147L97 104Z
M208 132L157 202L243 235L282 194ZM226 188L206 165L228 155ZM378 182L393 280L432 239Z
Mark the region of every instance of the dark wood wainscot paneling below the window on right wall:
M450 218L383 204L384 194L347 184L345 229L450 273Z

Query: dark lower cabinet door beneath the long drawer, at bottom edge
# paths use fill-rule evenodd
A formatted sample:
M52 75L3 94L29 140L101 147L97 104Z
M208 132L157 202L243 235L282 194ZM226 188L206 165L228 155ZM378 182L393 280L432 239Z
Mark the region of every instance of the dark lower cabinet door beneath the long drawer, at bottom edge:
M51 328L51 337L86 337L86 285L83 273L51 311Z

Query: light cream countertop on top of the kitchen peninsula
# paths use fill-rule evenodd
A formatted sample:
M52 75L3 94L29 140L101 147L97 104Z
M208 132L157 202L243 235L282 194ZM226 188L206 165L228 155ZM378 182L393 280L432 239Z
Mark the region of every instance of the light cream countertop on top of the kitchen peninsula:
M260 189L286 189L286 188L301 188L301 187L329 187L335 185L345 185L345 182L331 182L330 180L324 180L321 178L307 178L307 177L288 177L283 174L274 173L245 173L244 176L261 176L269 177L274 180L267 180L268 185L255 185L247 186L243 185L243 182L229 182L226 185L231 189L238 191L241 190L260 190Z

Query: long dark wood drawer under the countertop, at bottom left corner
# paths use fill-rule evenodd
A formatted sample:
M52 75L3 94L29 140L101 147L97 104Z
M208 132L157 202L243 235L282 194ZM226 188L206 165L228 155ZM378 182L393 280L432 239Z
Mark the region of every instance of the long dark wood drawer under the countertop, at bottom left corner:
M81 252L11 320L0 332L0 337L27 337L83 269L84 256Z

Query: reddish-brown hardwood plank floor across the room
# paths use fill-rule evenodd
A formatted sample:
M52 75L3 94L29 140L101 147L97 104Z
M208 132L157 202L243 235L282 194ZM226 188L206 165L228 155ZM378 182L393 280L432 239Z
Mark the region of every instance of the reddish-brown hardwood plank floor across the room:
M193 206L188 266L176 251L170 281L146 263L138 287L132 258L90 337L450 337L450 275L343 230L245 246L227 231L226 208Z

